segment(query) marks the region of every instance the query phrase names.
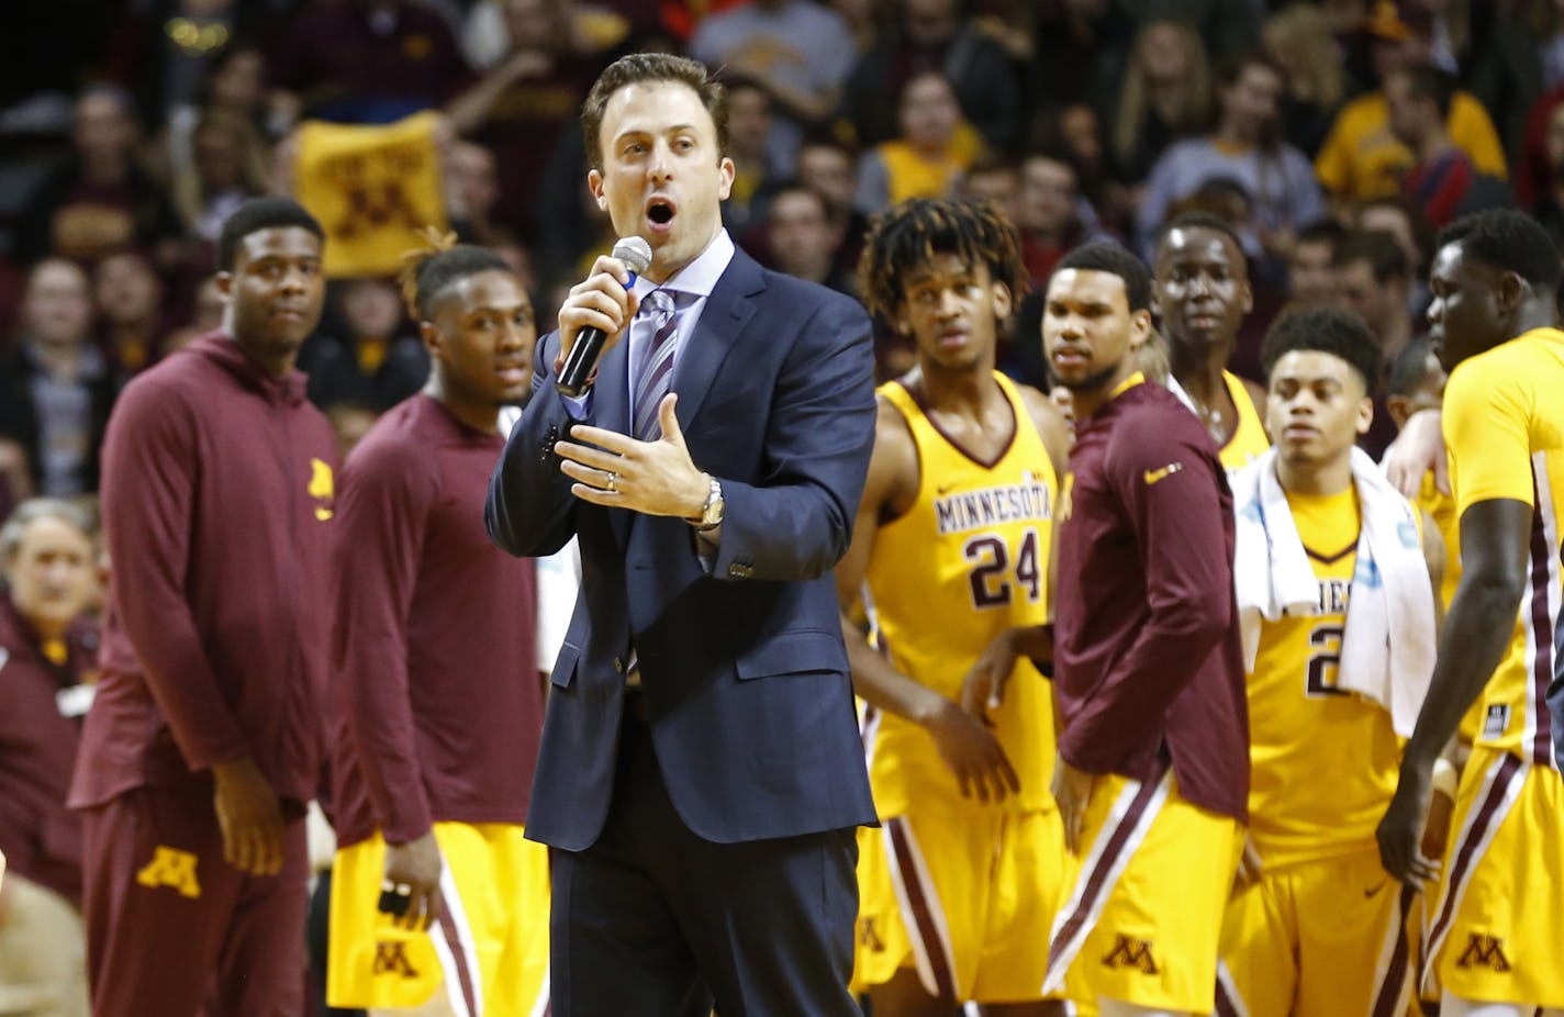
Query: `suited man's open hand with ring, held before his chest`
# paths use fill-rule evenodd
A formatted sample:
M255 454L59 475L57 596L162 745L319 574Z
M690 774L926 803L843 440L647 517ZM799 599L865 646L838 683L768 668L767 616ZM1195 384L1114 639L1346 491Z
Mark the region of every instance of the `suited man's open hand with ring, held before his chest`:
M554 446L560 473L576 480L571 494L594 505L698 518L712 493L712 482L690 460L679 418L674 416L679 396L668 393L657 407L663 424L663 437L657 441L637 441L588 424L571 427L571 440Z

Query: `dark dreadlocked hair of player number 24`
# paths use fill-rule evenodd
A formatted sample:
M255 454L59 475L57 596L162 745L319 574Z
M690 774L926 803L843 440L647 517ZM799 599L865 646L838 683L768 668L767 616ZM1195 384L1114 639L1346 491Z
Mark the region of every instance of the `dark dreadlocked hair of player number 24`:
M893 318L902 300L902 279L937 253L987 266L993 282L1009 286L1017 302L1026 294L1021 236L998 205L918 197L882 211L870 225L859 260L870 311Z

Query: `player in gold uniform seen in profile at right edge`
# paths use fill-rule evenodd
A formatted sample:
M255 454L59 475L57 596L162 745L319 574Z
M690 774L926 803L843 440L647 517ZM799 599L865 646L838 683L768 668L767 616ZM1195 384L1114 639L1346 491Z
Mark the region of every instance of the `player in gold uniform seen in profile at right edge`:
M1417 836L1434 760L1469 704L1483 728L1456 793L1455 836L1426 929L1447 1017L1564 1014L1564 778L1553 677L1564 504L1561 268L1517 211L1458 219L1436 241L1429 338L1461 518L1461 585L1428 699L1379 823L1386 868L1428 879Z

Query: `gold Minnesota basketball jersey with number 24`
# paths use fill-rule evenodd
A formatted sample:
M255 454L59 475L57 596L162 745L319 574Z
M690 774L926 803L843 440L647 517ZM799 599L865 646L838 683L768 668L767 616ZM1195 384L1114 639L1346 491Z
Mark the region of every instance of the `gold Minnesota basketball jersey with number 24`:
M898 382L881 396L907 421L918 449L918 494L881 526L865 574L874 645L907 677L948 699L999 632L1048 620L1048 549L1057 480L1042 437L1003 374L1015 418L1010 444L992 463L946 438ZM1053 688L1029 662L1017 665L990 710L1021 782L1006 807L1053 807ZM949 767L921 726L876 712L866 731L870 781L881 817L927 796L960 800Z

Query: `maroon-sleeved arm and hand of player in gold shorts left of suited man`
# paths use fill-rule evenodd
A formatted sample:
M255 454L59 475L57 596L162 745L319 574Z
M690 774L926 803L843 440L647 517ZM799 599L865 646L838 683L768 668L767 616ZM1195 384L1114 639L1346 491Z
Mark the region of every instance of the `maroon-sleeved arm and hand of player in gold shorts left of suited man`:
M439 499L427 460L411 447L360 446L343 471L333 573L332 670L346 688L353 760L386 842L385 878L407 909L396 922L427 928L439 911L439 848L418 764L407 676L407 626L430 508ZM397 909L402 901L389 901Z

